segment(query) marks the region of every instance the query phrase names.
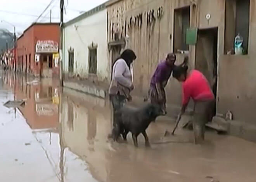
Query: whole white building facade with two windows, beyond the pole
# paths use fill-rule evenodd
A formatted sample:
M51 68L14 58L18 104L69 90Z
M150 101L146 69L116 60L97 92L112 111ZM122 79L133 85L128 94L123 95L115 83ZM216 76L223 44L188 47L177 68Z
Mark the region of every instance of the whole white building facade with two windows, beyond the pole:
M109 82L105 4L64 24L63 34L64 74Z

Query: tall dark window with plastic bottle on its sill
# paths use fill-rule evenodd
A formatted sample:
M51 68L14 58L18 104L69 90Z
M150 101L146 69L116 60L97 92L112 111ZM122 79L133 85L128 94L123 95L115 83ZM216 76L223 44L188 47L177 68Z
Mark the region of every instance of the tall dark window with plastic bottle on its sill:
M234 40L243 38L244 53L248 52L250 0L226 0L225 6L225 54L234 54Z

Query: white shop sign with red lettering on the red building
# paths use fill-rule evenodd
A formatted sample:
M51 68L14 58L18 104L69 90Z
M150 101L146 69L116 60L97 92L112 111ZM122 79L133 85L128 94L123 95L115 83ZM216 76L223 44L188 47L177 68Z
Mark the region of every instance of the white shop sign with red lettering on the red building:
M59 51L59 44L54 41L37 41L36 53L57 53Z

